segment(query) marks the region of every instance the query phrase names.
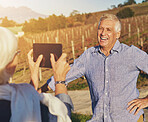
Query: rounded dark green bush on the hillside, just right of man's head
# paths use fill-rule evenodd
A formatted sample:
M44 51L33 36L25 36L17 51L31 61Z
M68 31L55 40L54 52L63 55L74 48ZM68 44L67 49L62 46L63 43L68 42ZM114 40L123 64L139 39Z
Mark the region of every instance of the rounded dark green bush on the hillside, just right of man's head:
M123 19L123 18L133 17L134 12L129 7L126 7L124 9L122 9L121 11L119 11L116 15L119 18Z

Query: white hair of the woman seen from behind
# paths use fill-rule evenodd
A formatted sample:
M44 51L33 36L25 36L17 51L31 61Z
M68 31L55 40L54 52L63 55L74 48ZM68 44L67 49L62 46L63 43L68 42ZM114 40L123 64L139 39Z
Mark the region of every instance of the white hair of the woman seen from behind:
M10 30L0 27L0 84L6 84L10 78L6 66L13 60L17 47L15 35Z

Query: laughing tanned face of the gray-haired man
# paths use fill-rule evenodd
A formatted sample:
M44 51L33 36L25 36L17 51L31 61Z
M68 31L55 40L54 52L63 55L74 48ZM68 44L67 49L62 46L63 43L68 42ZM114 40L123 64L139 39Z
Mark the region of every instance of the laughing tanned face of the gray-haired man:
M117 38L119 32L115 31L116 22L113 20L102 20L98 28L98 42L103 48L111 49Z

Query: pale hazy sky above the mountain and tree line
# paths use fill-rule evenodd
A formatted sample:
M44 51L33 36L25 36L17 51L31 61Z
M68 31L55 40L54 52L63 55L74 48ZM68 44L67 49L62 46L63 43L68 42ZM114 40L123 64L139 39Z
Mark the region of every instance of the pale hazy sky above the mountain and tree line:
M26 6L45 15L69 16L73 10L78 10L80 13L98 12L125 1L127 0L0 0L0 5L2 7ZM142 0L135 1L136 3L142 2Z

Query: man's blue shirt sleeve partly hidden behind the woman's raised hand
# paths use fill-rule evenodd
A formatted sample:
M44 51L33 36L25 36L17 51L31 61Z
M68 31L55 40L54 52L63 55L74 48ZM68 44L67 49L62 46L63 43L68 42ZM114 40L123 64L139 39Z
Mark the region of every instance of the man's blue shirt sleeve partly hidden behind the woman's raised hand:
M67 83L85 75L85 57L86 52L84 52L78 59L75 59L74 63L70 65L71 69L66 75ZM47 84L53 91L55 91L55 81L53 76L47 80Z

